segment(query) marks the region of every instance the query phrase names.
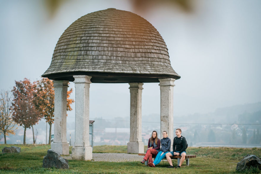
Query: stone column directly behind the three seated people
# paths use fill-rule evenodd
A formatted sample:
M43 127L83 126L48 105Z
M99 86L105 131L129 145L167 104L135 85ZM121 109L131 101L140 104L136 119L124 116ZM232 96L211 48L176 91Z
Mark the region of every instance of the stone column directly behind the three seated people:
M163 138L163 131L167 131L173 144L173 87L176 79L159 79L160 81L160 137Z

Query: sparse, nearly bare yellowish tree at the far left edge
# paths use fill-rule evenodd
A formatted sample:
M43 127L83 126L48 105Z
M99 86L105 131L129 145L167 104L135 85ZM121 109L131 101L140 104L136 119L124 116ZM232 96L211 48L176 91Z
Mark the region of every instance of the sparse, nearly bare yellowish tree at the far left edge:
M15 122L12 119L12 95L9 91L0 92L0 132L4 134L4 143L6 136L15 135Z

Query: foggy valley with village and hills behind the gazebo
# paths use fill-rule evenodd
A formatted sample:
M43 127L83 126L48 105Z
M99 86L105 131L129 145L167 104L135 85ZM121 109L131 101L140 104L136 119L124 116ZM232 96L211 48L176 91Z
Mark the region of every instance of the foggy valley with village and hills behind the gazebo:
M93 146L127 145L130 138L129 118L122 116L103 119L90 116L90 120L94 120ZM74 146L75 122L72 120L73 118L67 119L67 141ZM187 139L189 146L261 147L261 102L218 108L207 114L174 115L174 130L176 128L182 129L182 135ZM143 115L142 141L145 146L153 130L158 132L160 138L160 115ZM23 127L18 127L16 135L7 136L7 144L22 144L23 131ZM35 125L35 132L36 143L45 144L46 136L49 137L49 124L47 126L42 119ZM3 144L4 138L0 138L0 143ZM90 145L91 138L90 135ZM31 129L26 131L26 143L33 143Z

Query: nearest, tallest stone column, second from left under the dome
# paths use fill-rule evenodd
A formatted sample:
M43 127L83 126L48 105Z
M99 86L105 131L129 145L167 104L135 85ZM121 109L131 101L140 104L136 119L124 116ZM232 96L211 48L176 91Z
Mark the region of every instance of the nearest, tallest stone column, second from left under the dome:
M91 160L93 149L89 141L89 93L91 76L73 76L75 83L75 142L72 159Z

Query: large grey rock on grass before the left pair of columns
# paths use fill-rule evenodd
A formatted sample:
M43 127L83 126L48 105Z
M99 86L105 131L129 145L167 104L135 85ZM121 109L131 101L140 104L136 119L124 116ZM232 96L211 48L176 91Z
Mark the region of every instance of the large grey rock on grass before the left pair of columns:
M43 160L44 168L69 169L68 160L61 157L58 153L49 149Z

